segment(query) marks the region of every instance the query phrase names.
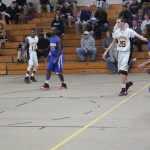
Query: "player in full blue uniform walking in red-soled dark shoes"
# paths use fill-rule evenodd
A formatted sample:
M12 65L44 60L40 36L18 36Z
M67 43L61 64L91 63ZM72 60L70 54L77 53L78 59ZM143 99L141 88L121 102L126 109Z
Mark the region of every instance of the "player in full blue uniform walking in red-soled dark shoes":
M62 89L67 89L67 85L64 82L64 77L62 74L63 69L63 46L61 43L60 38L57 36L57 30L55 27L51 28L50 31L50 53L48 56L48 66L47 66L47 73L46 73L46 80L43 86L41 86L41 89L49 89L49 80L51 77L51 72L55 72L60 80L61 80L61 87Z

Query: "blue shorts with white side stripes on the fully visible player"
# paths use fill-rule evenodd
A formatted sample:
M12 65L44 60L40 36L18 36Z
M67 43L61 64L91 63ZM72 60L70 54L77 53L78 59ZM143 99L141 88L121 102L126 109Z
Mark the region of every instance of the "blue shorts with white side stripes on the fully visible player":
M51 56L50 60L48 62L47 71L48 72L53 71L53 72L56 72L56 73L62 73L64 55L63 54L60 55L60 57L58 59L58 62L55 65L53 64L54 60L56 60L56 57Z

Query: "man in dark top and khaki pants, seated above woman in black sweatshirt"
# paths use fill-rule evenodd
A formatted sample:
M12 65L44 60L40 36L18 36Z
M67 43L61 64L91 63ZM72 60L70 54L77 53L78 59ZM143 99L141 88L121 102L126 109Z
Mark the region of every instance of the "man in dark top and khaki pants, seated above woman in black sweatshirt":
M70 7L68 2L64 3L64 6L60 10L60 18L63 20L64 24L71 27L73 22L73 9Z

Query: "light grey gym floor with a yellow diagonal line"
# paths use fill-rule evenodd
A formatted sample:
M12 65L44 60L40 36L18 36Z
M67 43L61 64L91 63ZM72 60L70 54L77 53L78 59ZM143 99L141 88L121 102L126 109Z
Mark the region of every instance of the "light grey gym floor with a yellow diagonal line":
M1 150L150 150L149 74L129 74L134 86L119 97L120 77L110 74L56 75L51 90L0 76Z

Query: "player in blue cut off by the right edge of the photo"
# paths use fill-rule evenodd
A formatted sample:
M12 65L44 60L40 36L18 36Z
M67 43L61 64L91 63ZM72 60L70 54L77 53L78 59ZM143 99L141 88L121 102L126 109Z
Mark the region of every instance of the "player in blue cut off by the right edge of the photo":
M144 29L143 34L144 34L144 36L146 37L146 40L145 40L145 41L148 42L148 54L149 54L149 56L150 56L150 24L147 24L147 25L145 26L145 29ZM150 64L150 60L144 62L143 64L140 64L138 67L139 67L140 69L144 69L144 67L145 67L146 65L148 65L148 64ZM146 71L147 71L147 73L150 74L150 68L148 68Z

